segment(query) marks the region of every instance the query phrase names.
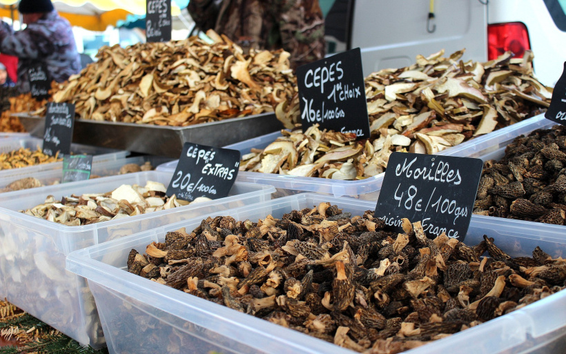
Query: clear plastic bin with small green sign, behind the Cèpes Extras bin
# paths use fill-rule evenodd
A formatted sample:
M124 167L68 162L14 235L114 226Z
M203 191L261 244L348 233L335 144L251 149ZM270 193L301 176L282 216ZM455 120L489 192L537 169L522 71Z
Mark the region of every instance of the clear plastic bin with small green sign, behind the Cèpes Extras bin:
M159 164L164 164L165 161L170 160L171 159L168 157L137 156L128 157L126 159L117 159L115 161L96 161L92 163L91 175L97 175L100 177L115 176L118 175L120 168L126 164L142 165L146 161L149 161L154 168L157 168ZM63 178L63 171L46 170L26 176L21 175L19 171L14 171L12 175L7 173L6 176L0 177L0 191L3 188L6 188L12 182L25 177L35 177L41 182L41 184L43 184L43 186L52 186L54 184L61 183L61 178Z

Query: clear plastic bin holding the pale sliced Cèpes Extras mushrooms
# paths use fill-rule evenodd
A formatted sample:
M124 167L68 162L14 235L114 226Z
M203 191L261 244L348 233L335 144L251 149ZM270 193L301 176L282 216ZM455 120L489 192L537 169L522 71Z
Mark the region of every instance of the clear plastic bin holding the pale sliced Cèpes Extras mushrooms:
M100 347L104 335L94 299L84 278L65 271L66 255L215 210L266 201L275 192L271 186L236 182L226 198L86 226L65 226L18 212L42 204L48 195L105 193L121 184L144 186L147 181L168 184L171 177L149 171L0 195L0 296L81 344Z

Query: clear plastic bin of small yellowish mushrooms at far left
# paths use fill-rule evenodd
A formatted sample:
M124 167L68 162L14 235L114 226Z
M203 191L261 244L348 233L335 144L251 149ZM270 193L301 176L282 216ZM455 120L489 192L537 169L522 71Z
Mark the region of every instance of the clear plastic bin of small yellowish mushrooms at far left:
M21 139L6 139L0 140L0 154L10 153L10 151L18 150L19 148L28 148L36 150L43 145L42 139L35 137L24 137ZM109 148L99 148L95 146L88 146L82 144L71 144L71 152L74 154L88 154L93 155L92 162L99 161L115 161L117 159L124 159L130 155L129 151L115 150ZM61 170L63 162L52 162L51 164L42 164L37 166L23 167L23 168L10 168L9 170L0 170L0 178L12 175L20 175L20 178L28 177L46 170Z

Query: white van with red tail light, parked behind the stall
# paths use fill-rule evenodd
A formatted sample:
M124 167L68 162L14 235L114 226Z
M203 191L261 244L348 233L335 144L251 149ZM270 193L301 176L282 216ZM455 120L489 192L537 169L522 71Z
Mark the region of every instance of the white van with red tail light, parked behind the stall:
M566 61L566 0L319 1L329 54L360 47L364 76L442 48L475 61L531 49L536 77L554 86Z

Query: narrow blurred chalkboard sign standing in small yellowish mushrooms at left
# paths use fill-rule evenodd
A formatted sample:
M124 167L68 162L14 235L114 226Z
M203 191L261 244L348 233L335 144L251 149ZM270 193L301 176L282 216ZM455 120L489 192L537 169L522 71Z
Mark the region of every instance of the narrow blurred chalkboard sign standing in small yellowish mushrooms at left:
M74 104L47 104L45 132L43 133L43 153L55 156L70 155L72 128L75 126Z

